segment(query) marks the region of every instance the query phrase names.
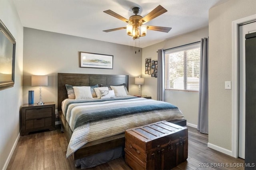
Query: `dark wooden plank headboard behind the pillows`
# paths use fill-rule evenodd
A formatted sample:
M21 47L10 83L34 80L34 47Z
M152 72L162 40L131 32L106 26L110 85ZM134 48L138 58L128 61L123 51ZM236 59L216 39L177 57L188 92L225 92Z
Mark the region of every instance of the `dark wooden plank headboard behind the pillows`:
M126 84L129 90L128 75L112 75L112 74L76 74L76 73L58 73L58 111L61 110L61 102L68 98L65 84L72 86L92 86L98 84L118 85Z

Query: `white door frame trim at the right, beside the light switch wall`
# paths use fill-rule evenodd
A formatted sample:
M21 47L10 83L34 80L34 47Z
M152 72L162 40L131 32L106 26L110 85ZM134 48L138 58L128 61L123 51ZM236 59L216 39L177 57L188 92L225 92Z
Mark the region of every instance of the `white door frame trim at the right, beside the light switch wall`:
M239 25L256 21L256 14L232 21L232 155L238 158L239 133Z

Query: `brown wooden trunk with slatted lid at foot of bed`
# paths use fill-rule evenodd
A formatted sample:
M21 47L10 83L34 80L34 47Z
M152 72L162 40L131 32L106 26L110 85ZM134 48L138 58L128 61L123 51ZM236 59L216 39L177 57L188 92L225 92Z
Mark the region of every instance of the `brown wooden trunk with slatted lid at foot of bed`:
M188 129L167 121L129 129L124 150L133 170L170 170L188 158Z

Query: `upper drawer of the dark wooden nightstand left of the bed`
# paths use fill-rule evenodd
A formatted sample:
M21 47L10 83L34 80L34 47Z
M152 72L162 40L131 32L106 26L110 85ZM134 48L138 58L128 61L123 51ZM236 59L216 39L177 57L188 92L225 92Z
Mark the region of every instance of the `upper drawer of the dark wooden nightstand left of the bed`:
M39 119L44 117L52 117L52 107L26 110L26 120Z

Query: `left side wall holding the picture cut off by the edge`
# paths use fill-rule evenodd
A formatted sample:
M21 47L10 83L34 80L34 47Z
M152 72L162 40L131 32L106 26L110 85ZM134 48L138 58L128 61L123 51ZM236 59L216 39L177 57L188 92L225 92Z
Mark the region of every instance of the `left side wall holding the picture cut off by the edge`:
M20 137L23 27L12 1L0 1L0 19L16 39L14 87L0 91L0 169L6 169Z

